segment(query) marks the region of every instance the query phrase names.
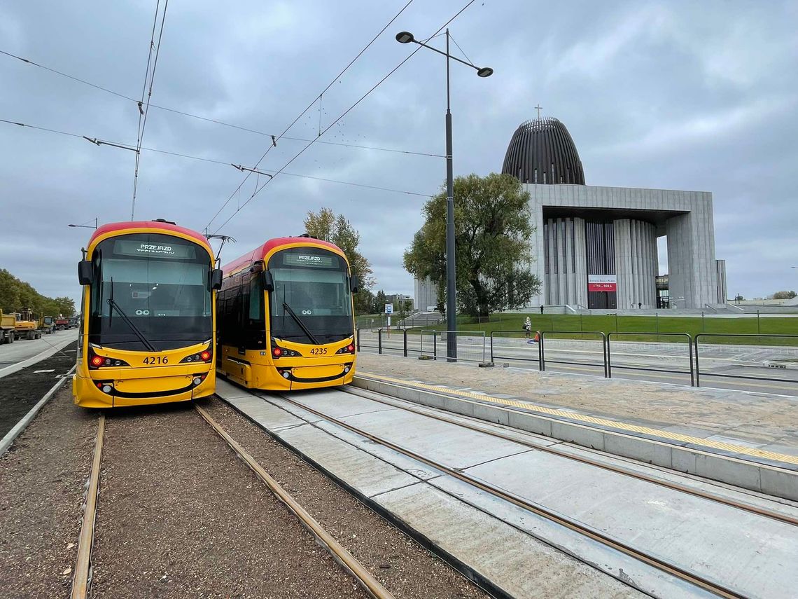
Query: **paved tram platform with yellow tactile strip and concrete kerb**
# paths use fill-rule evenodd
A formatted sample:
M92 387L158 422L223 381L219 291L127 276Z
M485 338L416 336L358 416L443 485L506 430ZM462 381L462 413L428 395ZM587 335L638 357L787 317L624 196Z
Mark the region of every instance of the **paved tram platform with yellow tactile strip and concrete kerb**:
M798 398L363 353L354 384L798 501Z

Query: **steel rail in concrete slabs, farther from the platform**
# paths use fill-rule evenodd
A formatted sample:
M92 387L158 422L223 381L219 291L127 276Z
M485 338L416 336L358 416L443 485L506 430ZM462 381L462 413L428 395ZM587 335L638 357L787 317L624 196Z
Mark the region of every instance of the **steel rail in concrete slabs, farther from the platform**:
M543 506L538 506L535 503L529 502L526 499L519 497L518 495L511 493L508 490L500 489L499 487L493 486L487 482L481 481L478 478L474 478L468 474L464 474L464 472L460 472L456 468L452 468L451 466L446 466L445 464L441 464L440 462L436 462L431 458L425 458L425 456L421 454L417 454L413 450L406 449L401 445L397 445L397 443L388 441L387 439L378 437L375 434L371 434L368 431L359 429L357 426L352 426L347 422L343 422L333 416L326 415L322 411L315 410L312 407L306 406L303 403L297 402L294 399L290 399L286 397L284 394L279 394L280 399L283 401L294 405L304 411L310 412L310 414L316 415L319 418L325 419L327 422L331 422L336 426L341 426L346 430L350 430L355 434L361 435L361 437L369 439L369 441L373 441L378 443L381 446L388 447L391 450L397 451L400 454L404 454L405 456L416 460L417 462L421 462L452 476L462 482L465 482L468 485L474 486L479 490L483 490L488 494L492 494L494 497L503 499L506 502L512 503L514 506L518 506L523 510L527 510L532 514L536 514L542 518L546 518L551 522L555 522L555 524L559 524L560 526L564 526L569 530L573 530L575 533L582 534L587 538L591 538L594 541L598 541L602 543L602 545L606 545L610 547L610 549L615 549L619 553L624 553L629 557L632 557L638 561L642 561L643 563L650 565L656 569L661 570L664 573L670 574L673 577L676 577L682 581L688 582L691 585L695 585L701 589L705 589L709 591L709 593L714 593L718 597L728 597L729 599L744 599L745 595L741 595L733 591L732 589L727 589L726 587L717 584L713 581L710 581L704 577L701 577L695 573L689 572L689 570L685 570L678 565L670 564L665 560L661 560L658 557L650 555L648 553L643 552L640 549L634 549L631 545L627 545L623 541L618 541L614 538L611 538L609 535L603 534L599 530L593 530L589 526L585 526L580 522L575 520L571 520L571 518L567 518L566 516L557 514L555 511L549 510ZM566 552L567 553L567 552ZM571 553L571 555L574 555ZM574 555L579 559L579 556ZM611 576L611 574L610 574ZM626 583L628 584L628 582Z

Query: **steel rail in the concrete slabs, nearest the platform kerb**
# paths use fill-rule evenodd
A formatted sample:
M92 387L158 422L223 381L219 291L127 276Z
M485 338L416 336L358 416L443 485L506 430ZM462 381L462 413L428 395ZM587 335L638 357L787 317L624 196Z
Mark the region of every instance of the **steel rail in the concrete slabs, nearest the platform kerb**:
M409 388L409 387L405 387L405 388ZM423 411L421 409L414 408L414 407L409 407L409 406L397 405L396 403L393 403L391 401L385 401L384 399L377 399L377 398L370 397L368 395L361 395L361 393L358 393L358 391L360 391L360 390L354 391L353 389L339 389L338 391L342 391L344 393L350 393L352 395L358 395L358 397L364 397L365 399L369 399L369 400L371 400L373 402L381 403L381 404L383 404L385 406L396 407L399 410L405 410L405 411L413 412L413 414L427 416L429 418L432 418L432 419L435 419L435 420L439 420L440 422L448 422L449 424L455 424L456 426L462 426L464 428L467 428L468 430L474 430L474 431L476 431L478 433L489 434L492 437L504 439L504 441L510 441L510 442L518 443L519 445L523 445L523 446L529 447L529 448L534 449L534 450L545 451L547 454L556 455L556 456L559 456L560 458L571 459L571 460L574 460L575 462L582 462L583 464L587 464L588 466L596 466L596 467L602 468L603 470L610 470L610 472L614 472L616 474L623 474L624 476L629 476L631 478L637 478L638 480L645 481L645 482L650 482L650 483L652 483L654 485L664 486L664 487L666 487L666 488L668 488L670 490L680 491L681 493L690 494L690 495L693 495L693 496L695 496L697 498L707 499L709 501L722 503L725 506L733 507L733 508L736 508L737 510L747 511L747 512L750 512L750 513L753 513L753 514L757 514L759 516L764 516L765 518L772 518L773 520L778 520L779 522L784 522L785 524L791 524L792 526L798 526L798 518L793 518L792 516L790 516L788 514L779 514L778 512L774 512L772 510L765 510L764 508L761 508L759 506L753 506L753 505L751 505L749 503L736 502L733 499L727 499L727 498L721 497L719 495L707 493L706 491L693 489L693 488L691 488L689 486L681 485L678 482L666 481L666 480L663 480L662 478L656 478L656 477L653 477L653 476L648 476L646 474L641 474L639 472L634 472L634 470L626 470L626 468L622 468L620 466L612 466L611 464L606 464L605 462L600 462L599 460L594 460L594 459L586 458L586 457L579 456L579 455L569 454L566 451L557 450L554 447L540 446L540 445L537 445L537 444L535 444L535 443L533 443L531 441L527 441L526 439L523 439L523 438L517 438L517 437L514 437L514 436L512 436L510 434L500 433L497 430L486 429L486 428L484 428L482 426L478 426L478 425L475 425L475 424L470 424L468 422L460 422L460 421L458 421L456 419L446 418L445 416L440 416L440 415L437 415L437 414L429 414L429 412ZM363 390L363 391L365 391L365 390ZM366 393L375 393L377 395L385 395L385 394L381 394L379 391L365 391L365 392ZM388 396L388 397L390 397L390 396ZM391 399L393 399L393 398L391 398ZM393 399L393 401L399 401L399 400ZM468 418L468 416L464 416L464 415L461 415L461 416L463 418ZM493 422L492 424L495 425L496 423ZM526 431L522 431L522 432L526 432Z

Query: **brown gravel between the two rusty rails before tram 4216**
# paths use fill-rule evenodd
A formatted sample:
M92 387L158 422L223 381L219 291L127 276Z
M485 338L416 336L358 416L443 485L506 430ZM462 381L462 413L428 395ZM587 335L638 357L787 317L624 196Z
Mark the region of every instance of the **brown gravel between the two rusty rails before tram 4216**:
M93 597L365 597L190 405L109 413L103 454Z

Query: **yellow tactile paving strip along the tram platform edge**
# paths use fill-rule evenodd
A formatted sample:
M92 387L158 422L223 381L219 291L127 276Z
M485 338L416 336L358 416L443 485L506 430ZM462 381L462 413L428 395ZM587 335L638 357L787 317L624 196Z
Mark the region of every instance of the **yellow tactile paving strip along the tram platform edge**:
M540 412L541 414L558 416L560 418L567 418L570 420L575 420L577 422L585 422L587 424L597 424L599 426L607 426L618 430L625 430L627 432L648 434L653 437L671 439L673 441L678 441L682 443L692 443L693 445L696 446L707 447L715 450L724 450L724 451L733 452L735 454L750 455L754 458L764 458L772 460L774 462L787 462L789 464L798 465L798 457L794 455L777 454L774 451L764 451L757 449L756 447L746 447L743 445L734 445L733 443L712 441L711 439L693 437L690 436L689 434L674 433L671 432L670 430L660 430L656 428L650 428L648 426L640 426L638 424L629 424L627 422L618 422L617 420L607 420L607 419L597 418L596 416L576 414L575 412L570 412L565 410L557 410L556 408L551 408L551 407L536 406L534 403L521 402L518 401L517 399L501 399L498 397L492 397L490 395L482 395L481 393L474 393L473 391L460 391L458 389L452 389L450 387L439 387L437 385L429 385L427 383L414 383L403 379L393 379L389 376L375 375L371 372L358 371L358 375L365 375L372 379L385 381L385 383L395 383L397 385L404 385L405 387L415 387L417 389L423 389L425 391L434 391L436 393L442 393L444 395L456 395L468 399L478 399L483 402L497 403L502 406L520 407L523 408L524 410L531 410L535 412Z

